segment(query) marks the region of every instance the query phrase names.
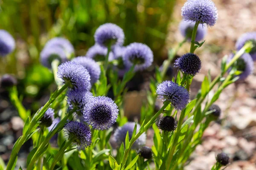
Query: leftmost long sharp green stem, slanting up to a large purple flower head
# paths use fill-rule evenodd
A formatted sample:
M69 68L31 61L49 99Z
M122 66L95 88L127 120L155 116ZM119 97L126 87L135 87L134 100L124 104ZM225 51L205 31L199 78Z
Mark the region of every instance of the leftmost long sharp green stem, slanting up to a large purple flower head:
M38 121L44 116L44 113L47 111L49 106L54 102L54 100L68 87L67 84L64 84L59 90L55 91L55 96L50 97L48 102L44 105L43 108L37 111L35 115L33 116L31 122L29 123L29 128L26 130L25 134L23 134L20 139L18 139L15 142L15 147L12 148L12 153L9 159L9 162L7 164L6 170L12 170L12 167L15 166L15 160L17 159L17 154L23 145L23 143L26 141L26 138L29 136L29 134L32 132L33 129L35 129L35 125L38 123Z

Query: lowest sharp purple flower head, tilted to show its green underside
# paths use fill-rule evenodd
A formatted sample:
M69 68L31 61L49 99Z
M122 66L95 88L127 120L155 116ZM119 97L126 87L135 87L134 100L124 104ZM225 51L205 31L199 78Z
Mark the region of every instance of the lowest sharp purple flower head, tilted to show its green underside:
M69 140L73 140L77 144L78 150L84 150L91 144L91 131L88 125L81 122L68 122L64 127L66 136Z

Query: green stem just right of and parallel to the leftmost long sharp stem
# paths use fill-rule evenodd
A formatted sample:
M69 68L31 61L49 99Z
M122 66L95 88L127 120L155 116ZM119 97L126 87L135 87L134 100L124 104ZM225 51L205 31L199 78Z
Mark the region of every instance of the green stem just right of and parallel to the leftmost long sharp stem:
M49 140L52 138L53 135L55 135L55 133L58 133L59 130L61 130L61 128L63 128L63 126L65 125L65 123L67 122L67 119L72 115L72 113L74 113L77 110L77 108L73 108L69 113L66 114L66 116L61 120L61 122L58 123L58 125L52 130L50 131L46 138L44 139L44 141L41 143L41 145L38 147L38 150L36 150L34 156L32 157L31 161L29 162L29 165L27 167L27 170L32 170L33 166L35 164L35 161L38 159L39 156L41 156L43 153L41 152L42 150L44 150L44 148L49 144Z

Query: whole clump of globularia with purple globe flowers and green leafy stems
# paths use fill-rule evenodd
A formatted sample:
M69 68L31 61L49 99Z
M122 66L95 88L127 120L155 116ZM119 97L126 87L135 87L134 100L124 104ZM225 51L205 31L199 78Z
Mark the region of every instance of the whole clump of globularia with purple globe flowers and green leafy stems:
M204 67L195 50L203 45L204 41L199 41L204 39L206 26L215 25L218 13L211 0L188 0L181 11L180 31L184 40L169 52L161 69L156 68L148 100L141 108L140 122L128 122L124 116L125 85L137 71L152 65L153 53L138 42L123 47L124 33L115 24L106 23L96 30L96 44L85 57L72 59L74 48L64 38L47 42L40 55L41 64L52 69L58 89L35 114L30 114L20 103L17 81L3 76L1 84L9 90L10 99L25 122L6 170L15 168L19 150L28 139L32 139L33 149L27 157L27 170L183 169L202 142L204 130L221 114L214 104L221 92L252 73L250 55L255 52L255 36L243 35L236 45L238 51L222 59L221 73L213 80L206 75L201 90L192 99L190 85ZM8 38L2 38L10 38L5 34L0 32L0 54L4 56L15 46L9 44ZM189 53L175 61L177 75L172 81L166 80L172 59L187 41L191 43ZM125 72L122 80L118 79L119 71ZM108 97L110 89L112 98ZM208 95L210 91L212 97ZM156 110L157 97L162 99L163 106ZM151 127L154 144L149 147L145 144ZM56 140L56 134L57 148L50 144ZM219 153L216 160L212 170L229 164L225 153ZM153 168L149 166L152 163Z

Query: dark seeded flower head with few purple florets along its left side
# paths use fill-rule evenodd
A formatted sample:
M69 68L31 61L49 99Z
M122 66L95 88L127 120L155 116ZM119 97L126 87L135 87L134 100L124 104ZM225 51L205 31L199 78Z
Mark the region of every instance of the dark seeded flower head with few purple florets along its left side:
M195 76L201 70L201 60L193 53L187 53L176 59L175 67L180 68L183 73Z

